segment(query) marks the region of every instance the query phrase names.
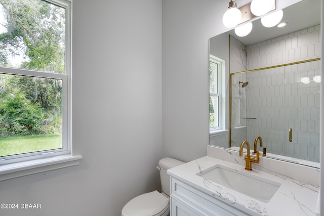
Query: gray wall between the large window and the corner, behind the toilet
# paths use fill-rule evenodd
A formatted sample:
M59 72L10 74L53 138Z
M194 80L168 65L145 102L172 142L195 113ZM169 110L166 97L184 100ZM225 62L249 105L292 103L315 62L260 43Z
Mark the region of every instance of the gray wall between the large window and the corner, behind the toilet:
M73 1L73 153L80 165L0 182L0 215L117 216L160 188L161 1Z

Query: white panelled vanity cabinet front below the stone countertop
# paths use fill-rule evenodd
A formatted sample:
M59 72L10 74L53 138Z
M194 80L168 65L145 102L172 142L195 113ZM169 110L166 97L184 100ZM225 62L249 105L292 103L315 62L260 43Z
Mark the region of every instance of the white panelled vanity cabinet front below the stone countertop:
M170 216L250 215L174 177L171 177L170 205Z

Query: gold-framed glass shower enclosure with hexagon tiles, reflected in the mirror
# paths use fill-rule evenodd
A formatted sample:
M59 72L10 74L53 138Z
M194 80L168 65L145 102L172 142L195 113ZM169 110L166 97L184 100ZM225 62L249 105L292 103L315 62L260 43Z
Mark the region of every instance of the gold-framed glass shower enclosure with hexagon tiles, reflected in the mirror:
M261 136L269 155L319 162L318 75L319 58L231 73L229 147Z

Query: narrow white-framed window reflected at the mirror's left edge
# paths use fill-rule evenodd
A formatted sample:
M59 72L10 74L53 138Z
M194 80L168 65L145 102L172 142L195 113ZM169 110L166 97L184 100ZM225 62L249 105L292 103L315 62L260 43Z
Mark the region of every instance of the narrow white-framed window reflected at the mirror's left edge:
M209 60L209 128L221 129L221 74L223 61L210 55Z

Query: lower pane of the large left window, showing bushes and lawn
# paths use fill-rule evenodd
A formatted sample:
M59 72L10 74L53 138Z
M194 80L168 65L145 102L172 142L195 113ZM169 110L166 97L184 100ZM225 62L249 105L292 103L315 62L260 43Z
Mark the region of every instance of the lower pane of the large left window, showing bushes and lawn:
M62 80L0 74L0 156L62 148Z

